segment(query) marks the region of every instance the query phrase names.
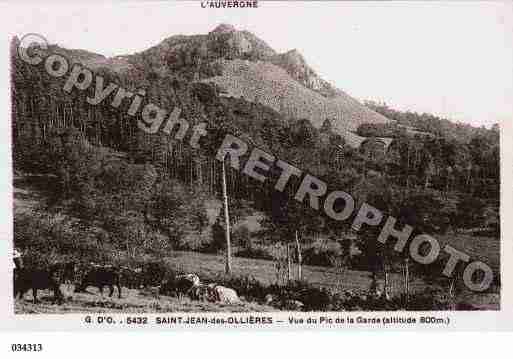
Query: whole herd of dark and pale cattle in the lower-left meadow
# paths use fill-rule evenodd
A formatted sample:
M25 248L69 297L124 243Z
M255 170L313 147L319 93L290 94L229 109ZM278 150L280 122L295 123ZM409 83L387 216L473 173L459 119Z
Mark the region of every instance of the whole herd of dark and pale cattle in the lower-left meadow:
M108 287L109 297L117 289L118 298L122 297L122 286L151 292L156 298L160 295L175 297L188 296L192 300L210 302L237 303L239 297L235 290L217 285L204 284L196 274L174 274L160 262L144 263L136 268L95 263L79 264L73 261L52 264L46 268L15 268L14 297L21 298L32 289L36 303L39 289L51 289L55 300L61 304L64 295L61 284L74 284L74 292L86 292L89 286L97 287L103 296L103 288Z

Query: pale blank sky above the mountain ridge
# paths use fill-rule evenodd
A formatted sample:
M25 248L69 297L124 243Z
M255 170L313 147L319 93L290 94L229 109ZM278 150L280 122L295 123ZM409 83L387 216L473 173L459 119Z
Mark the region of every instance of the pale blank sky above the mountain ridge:
M105 56L229 23L278 52L297 49L322 78L359 100L474 126L513 120L511 2L260 1L258 9L219 10L199 1L22 2L9 11L1 26L11 35L36 32Z

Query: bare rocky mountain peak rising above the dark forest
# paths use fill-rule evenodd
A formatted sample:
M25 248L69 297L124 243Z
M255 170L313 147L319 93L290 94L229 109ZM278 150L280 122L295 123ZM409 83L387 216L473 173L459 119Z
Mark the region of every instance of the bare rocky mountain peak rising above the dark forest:
M221 24L209 34L172 36L140 53L114 58L69 52L90 68L113 71L134 86L142 86L149 76L174 74L214 82L228 96L259 102L290 118L306 118L316 127L329 118L344 137L354 137L346 131L361 123L390 121L321 79L297 50L278 54L265 41L231 25Z

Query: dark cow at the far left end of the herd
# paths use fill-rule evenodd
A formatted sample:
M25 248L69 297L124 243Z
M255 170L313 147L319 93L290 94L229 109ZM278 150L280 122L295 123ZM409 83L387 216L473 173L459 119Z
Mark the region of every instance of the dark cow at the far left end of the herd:
M53 290L54 299L62 303L64 295L60 290L62 282L63 265L57 263L47 268L17 268L14 270L14 297L24 297L25 293L32 289L33 302L37 303L38 289Z

